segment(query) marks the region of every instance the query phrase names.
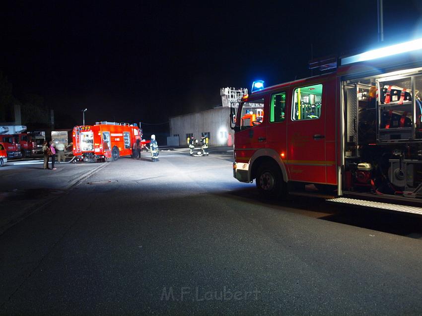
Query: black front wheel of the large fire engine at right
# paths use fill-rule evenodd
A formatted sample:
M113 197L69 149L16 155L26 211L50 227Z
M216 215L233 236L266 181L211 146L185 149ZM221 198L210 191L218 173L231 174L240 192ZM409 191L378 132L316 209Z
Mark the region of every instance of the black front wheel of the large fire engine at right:
M267 199L279 199L286 195L281 170L274 163L266 162L258 168L255 183L262 196Z

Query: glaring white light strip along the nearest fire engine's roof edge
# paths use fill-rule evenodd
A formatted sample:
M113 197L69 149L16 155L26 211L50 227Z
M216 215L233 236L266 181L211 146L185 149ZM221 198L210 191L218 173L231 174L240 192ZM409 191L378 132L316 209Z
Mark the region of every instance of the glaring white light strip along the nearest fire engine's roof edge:
M370 60L377 59L377 58L413 52L413 51L417 51L417 50L421 50L421 49L422 49L422 38L417 39L417 40L413 40L413 41L409 41L409 42L405 42L405 43L401 43L401 44L396 44L396 45L391 45L391 46L387 46L387 47L383 47L383 48L378 48L376 50L371 50L371 51L367 51L367 52L362 53L362 54L343 58L342 59L342 65L345 65L345 64L348 64L348 63L370 61Z

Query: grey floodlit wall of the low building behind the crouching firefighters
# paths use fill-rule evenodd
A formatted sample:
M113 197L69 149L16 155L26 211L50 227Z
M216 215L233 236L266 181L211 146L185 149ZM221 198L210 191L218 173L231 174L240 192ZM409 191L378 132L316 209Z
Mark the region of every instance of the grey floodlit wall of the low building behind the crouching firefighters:
M203 132L210 132L210 146L231 146L233 132L230 129L230 108L219 107L203 112L170 118L170 136L179 135L180 146L187 145L186 134L193 133L200 139Z

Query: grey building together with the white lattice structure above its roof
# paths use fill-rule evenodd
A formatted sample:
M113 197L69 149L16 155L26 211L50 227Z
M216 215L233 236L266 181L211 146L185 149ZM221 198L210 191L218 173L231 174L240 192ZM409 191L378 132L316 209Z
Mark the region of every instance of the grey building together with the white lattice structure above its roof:
M203 135L209 137L210 146L233 145L230 104L239 102L247 93L248 89L244 88L221 88L222 105L220 107L170 118L170 137L178 137L179 146L187 145L188 137L194 136L200 139Z

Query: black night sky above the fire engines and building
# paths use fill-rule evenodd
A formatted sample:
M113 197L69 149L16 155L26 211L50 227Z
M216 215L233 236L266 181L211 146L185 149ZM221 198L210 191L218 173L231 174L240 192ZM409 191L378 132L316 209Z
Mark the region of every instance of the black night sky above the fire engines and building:
M221 87L309 76L311 44L314 58L377 45L376 0L61 2L0 12L0 70L61 128L83 108L86 124L166 122L218 106ZM422 37L421 1L384 0L384 35Z

